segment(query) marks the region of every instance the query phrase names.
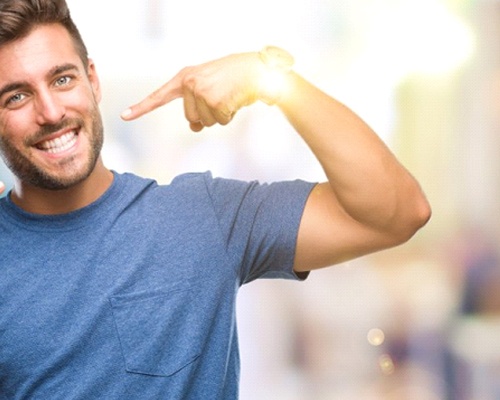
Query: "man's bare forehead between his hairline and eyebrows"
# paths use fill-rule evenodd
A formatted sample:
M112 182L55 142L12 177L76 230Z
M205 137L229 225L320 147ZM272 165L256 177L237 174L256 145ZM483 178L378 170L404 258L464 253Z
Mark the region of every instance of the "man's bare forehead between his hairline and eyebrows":
M0 82L36 78L65 63L83 66L68 31L59 24L40 25L0 46Z

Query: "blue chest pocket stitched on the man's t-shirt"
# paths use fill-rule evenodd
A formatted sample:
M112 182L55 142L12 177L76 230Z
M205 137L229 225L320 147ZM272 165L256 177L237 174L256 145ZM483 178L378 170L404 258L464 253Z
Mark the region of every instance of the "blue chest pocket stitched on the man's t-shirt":
M127 372L172 376L199 358L210 315L199 289L132 293L110 302Z

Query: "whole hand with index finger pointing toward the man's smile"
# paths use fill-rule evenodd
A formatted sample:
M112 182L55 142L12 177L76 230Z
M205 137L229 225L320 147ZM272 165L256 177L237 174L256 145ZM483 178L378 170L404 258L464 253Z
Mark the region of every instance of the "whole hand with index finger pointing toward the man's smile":
M259 77L264 65L258 53L233 54L182 69L165 85L130 107L126 121L183 98L191 130L201 131L216 123L228 124L236 112L258 99Z

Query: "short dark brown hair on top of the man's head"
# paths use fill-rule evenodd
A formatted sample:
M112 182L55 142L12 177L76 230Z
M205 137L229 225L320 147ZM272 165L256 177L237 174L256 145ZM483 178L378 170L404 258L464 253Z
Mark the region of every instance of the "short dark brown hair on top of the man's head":
M87 48L65 0L0 0L0 46L48 24L61 24L66 28L83 65L87 66Z

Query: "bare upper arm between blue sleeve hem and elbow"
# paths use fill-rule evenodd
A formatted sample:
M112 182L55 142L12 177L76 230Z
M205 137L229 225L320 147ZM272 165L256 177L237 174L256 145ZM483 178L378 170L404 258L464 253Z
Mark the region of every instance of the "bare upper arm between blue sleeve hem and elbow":
M363 225L340 205L328 183L315 186L299 226L294 270L310 271L391 246L388 235Z

